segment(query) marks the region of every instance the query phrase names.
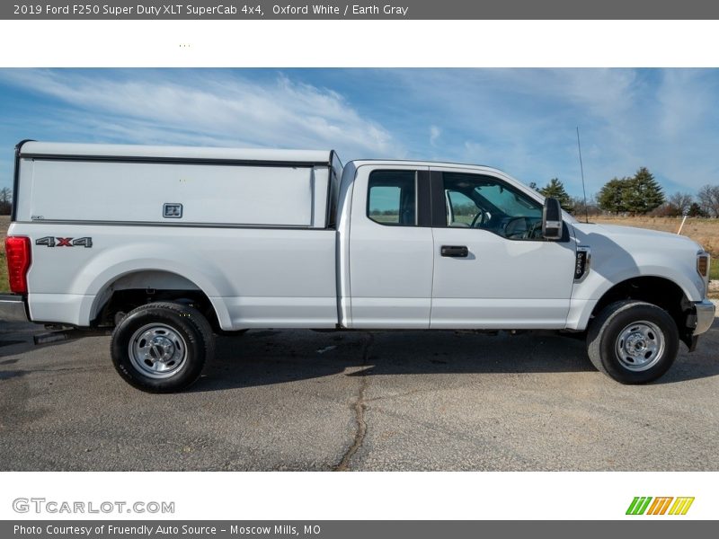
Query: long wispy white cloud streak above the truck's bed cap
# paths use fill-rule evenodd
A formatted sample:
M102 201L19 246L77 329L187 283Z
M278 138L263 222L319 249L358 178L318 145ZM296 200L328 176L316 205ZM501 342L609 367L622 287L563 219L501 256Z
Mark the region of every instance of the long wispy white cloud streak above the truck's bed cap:
M339 93L278 75L250 81L217 71L8 70L6 82L67 105L52 110L58 137L191 146L333 148L404 155L383 128Z

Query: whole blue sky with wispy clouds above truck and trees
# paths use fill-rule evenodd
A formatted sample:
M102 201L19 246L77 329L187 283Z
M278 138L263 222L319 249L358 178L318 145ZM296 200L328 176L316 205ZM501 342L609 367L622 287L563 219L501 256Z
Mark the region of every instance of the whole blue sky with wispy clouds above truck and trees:
M0 69L0 187L51 141L261 146L489 164L581 194L646 166L719 183L719 69Z

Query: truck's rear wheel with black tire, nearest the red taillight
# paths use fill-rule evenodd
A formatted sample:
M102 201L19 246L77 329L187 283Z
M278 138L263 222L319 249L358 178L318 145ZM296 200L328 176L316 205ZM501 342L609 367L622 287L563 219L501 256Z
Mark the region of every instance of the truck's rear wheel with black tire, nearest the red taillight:
M130 385L173 393L194 383L214 353L212 328L189 305L157 302L126 314L112 333L112 364Z

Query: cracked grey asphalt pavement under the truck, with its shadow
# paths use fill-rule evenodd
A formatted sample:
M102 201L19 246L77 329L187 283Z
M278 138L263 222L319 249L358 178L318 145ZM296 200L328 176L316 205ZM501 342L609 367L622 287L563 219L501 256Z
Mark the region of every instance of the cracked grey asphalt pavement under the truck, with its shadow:
M249 331L185 393L0 323L2 470L719 470L719 321L655 384L552 334ZM40 329L40 331L42 331Z

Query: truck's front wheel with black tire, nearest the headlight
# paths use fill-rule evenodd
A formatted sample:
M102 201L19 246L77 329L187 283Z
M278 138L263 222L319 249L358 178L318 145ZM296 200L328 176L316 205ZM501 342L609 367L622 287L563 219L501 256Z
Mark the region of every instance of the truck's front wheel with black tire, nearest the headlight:
M599 372L621 384L646 384L669 370L679 352L670 314L643 301L617 301L591 322L587 353Z

